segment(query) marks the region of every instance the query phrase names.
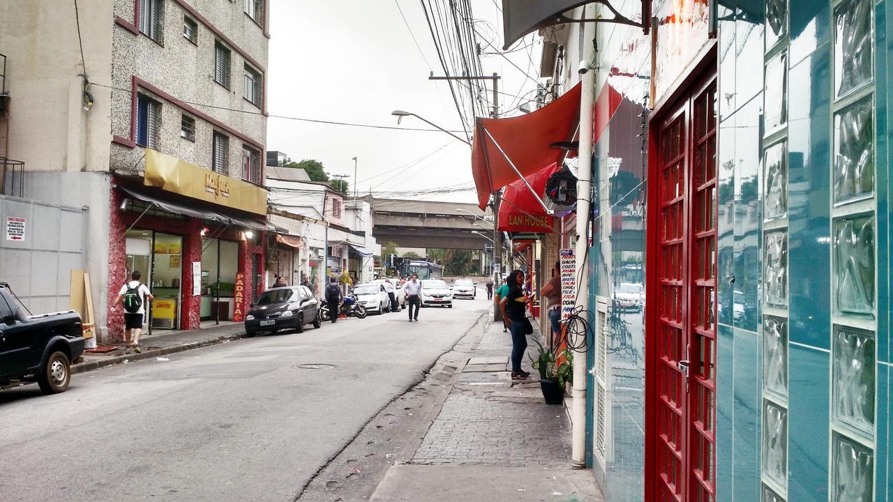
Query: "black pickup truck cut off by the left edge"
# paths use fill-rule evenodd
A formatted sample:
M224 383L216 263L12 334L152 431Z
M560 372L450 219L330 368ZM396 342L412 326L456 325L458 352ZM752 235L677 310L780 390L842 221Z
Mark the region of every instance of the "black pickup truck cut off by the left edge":
M0 385L37 381L45 394L68 389L71 362L84 353L80 314L73 310L29 315L0 282Z

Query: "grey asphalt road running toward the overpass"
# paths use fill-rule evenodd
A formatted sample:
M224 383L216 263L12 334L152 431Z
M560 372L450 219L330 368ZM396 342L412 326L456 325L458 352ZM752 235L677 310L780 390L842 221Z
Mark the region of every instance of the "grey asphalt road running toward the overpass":
M4 390L0 500L294 500L489 305L479 289L420 322L350 318L76 374L56 396Z

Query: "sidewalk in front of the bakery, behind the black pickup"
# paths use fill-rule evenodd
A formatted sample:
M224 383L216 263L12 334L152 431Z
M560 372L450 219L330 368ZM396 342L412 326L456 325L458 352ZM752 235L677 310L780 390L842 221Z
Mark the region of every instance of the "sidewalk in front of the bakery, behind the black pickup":
M140 359L165 356L191 348L206 347L245 337L245 324L234 322L204 330L173 331L143 337L140 339L142 353L127 352L124 343L116 344L114 350L104 353L84 352L83 360L71 364L72 373L89 372L111 364L127 364ZM89 349L88 349L89 350Z

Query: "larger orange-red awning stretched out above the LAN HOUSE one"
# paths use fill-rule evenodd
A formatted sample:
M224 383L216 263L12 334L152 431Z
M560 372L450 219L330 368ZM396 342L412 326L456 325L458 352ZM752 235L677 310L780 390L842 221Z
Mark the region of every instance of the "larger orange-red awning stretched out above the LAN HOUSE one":
M580 84L536 112L508 119L478 119L472 176L480 208L487 205L491 192L519 180L519 173L528 176L544 165L560 163L564 151L550 145L571 141L579 121Z

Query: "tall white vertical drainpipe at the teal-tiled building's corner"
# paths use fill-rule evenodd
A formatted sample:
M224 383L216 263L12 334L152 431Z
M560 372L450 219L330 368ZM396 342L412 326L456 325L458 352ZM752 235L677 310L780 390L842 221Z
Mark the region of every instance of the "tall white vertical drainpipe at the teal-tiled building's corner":
M583 19L596 17L594 4L585 8ZM583 59L592 66L596 51L593 41L596 37L596 23L583 23ZM582 96L580 96L580 150L577 164L577 242L574 255L577 261L577 309L588 304L588 271L586 266L586 249L588 247L588 215L591 212L589 194L592 187L592 136L593 109L596 94L596 70L590 69L582 75ZM573 341L576 347L585 347L588 352L586 337L588 333L575 330L578 339ZM582 337L583 339L579 339ZM571 460L574 468L586 467L586 361L587 352L578 352L573 357L573 407L571 416L573 430L571 438Z

